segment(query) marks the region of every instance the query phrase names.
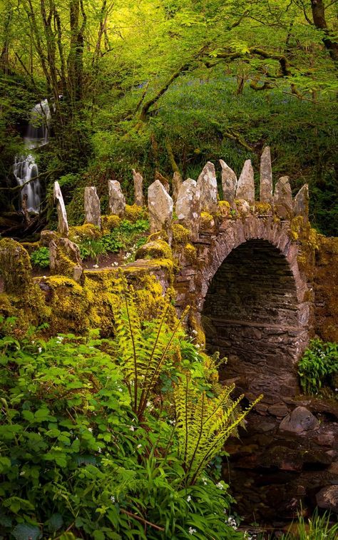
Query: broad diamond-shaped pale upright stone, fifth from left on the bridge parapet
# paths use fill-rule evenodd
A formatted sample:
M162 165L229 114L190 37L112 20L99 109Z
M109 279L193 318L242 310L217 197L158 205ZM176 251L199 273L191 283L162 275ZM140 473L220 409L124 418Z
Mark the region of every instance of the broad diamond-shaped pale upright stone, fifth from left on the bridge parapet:
M171 242L171 220L173 219L173 199L167 193L160 180L155 180L148 188L148 207L150 233L157 233L165 228Z

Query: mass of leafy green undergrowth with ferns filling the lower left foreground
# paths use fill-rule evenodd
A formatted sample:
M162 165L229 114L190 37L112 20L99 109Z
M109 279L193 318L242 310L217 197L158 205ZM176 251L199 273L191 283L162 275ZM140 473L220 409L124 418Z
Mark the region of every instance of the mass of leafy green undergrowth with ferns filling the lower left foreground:
M247 411L169 315L141 321L126 289L113 340L0 320L2 536L243 538L210 462Z

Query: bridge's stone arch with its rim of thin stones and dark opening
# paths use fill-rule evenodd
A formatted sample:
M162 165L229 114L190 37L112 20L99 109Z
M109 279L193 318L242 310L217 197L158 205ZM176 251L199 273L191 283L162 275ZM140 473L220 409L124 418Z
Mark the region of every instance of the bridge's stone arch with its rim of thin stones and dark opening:
M309 339L297 254L283 224L254 216L227 221L200 249L196 308L207 349L228 357L227 379L269 403L297 393L296 364Z

